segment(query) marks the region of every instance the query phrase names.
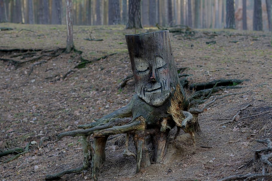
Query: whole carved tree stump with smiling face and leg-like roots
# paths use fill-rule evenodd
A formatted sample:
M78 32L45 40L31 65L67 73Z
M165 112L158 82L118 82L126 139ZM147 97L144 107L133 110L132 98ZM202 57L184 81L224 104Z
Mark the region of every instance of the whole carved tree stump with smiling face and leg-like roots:
M57 137L60 140L64 136L87 137L93 134L94 144L88 144L88 148L92 153L94 180L97 180L99 168L105 160L105 146L109 135L127 133L124 156L136 158L136 173L151 164L149 148L145 143L147 136L152 138L154 151L151 159L155 163L163 161L168 133L175 126L192 135L195 148L197 115L187 112L189 103L179 82L169 31L125 37L135 80L135 95L130 103L97 119L95 123L78 126L81 130L64 132ZM132 119L120 119L124 117ZM128 150L129 134L133 136L137 156Z

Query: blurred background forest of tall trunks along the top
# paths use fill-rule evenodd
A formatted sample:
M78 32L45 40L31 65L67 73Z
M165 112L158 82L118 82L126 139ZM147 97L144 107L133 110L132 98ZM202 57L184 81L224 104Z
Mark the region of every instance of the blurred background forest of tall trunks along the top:
M126 24L129 1L72 0L73 24ZM142 25L224 28L229 2L234 4L233 28L271 30L271 0L142 0ZM65 7L65 0L0 0L0 22L66 24Z

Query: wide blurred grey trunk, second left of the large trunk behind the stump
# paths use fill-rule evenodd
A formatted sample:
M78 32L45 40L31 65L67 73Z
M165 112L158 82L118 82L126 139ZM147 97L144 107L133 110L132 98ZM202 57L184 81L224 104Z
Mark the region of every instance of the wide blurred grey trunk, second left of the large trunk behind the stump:
M120 24L119 0L109 1L109 25Z

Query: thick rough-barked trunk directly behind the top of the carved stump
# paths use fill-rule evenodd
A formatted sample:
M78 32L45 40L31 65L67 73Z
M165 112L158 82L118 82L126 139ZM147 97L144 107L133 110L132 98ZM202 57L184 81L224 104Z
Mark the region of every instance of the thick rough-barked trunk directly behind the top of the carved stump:
M141 1L129 0L129 20L126 29L143 28L141 23Z

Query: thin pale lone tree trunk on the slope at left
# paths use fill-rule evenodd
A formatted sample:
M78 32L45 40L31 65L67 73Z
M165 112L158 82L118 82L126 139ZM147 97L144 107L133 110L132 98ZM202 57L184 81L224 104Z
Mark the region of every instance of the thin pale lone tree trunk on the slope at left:
M74 49L72 10L73 10L72 0L66 0L66 26L67 26L66 52L67 53L71 52Z

